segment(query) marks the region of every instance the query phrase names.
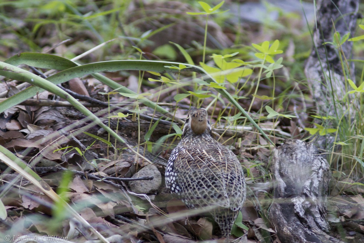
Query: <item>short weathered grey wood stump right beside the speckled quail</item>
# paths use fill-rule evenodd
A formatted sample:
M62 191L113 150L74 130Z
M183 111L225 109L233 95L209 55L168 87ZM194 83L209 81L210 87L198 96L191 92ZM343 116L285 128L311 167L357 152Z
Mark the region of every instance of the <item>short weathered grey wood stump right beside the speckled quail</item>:
M327 234L326 200L331 173L316 146L288 139L272 156L275 183L269 217L281 242L340 242Z

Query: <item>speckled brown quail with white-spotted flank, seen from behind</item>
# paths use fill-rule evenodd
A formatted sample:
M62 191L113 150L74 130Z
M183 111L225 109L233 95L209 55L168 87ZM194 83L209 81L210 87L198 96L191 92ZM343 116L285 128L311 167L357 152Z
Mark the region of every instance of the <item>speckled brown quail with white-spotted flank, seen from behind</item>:
M246 197L244 172L235 154L211 137L205 109L189 111L165 178L188 208L211 207L221 235L229 237Z

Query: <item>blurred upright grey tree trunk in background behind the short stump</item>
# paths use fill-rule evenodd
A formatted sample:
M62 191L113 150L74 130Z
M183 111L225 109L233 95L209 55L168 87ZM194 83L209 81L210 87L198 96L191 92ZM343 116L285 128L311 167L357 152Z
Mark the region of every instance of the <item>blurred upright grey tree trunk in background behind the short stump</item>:
M354 63L345 64L345 58L352 58L352 42L341 45L342 52L333 44L333 33L338 31L340 36L349 33L353 37L358 18L359 0L318 0L317 1L317 23L313 31L314 46L307 59L305 75L316 103L317 114L321 116L353 117L355 108L358 106L355 94L349 94L349 101L343 102L347 92L346 78L355 82ZM325 44L326 43L326 44ZM339 53L343 54L341 56ZM344 63L344 64L343 64ZM343 70L344 67L344 70ZM332 124L328 124L332 127ZM333 138L330 135L320 136L317 144L321 148L332 145Z

